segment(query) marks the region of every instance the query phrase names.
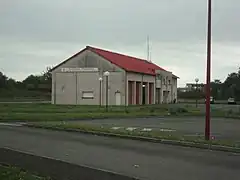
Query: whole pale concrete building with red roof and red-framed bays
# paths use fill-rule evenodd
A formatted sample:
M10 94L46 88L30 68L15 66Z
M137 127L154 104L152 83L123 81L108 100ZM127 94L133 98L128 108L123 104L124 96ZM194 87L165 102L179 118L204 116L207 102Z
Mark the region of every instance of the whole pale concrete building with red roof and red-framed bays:
M177 101L178 77L146 60L87 46L51 70L52 104Z

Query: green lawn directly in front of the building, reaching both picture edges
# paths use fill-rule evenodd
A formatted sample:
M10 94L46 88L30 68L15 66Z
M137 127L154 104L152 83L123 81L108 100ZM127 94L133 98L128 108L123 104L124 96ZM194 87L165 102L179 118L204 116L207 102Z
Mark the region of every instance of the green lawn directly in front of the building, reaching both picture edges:
M75 106L52 104L0 104L0 121L61 121L96 118L131 118L149 116L204 116L204 110L184 105L146 105L146 106L110 106L106 112L104 106ZM213 109L212 116L235 117L240 113Z

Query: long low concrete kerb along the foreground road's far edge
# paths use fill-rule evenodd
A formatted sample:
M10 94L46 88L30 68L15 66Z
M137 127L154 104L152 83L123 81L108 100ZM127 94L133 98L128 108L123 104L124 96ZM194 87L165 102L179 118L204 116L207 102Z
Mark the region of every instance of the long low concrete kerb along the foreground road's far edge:
M63 129L63 128L58 128L58 127L43 127L41 125L33 125L33 124L24 124L23 126L30 127L30 128L37 128L37 129L49 129L49 130L54 130L54 131L75 132L75 133L82 133L82 134L91 134L91 135L98 135L98 136L106 136L106 137L131 139L131 140L138 140L138 141L145 141L145 142L161 143L161 144L167 144L167 145L240 153L240 148L237 148L237 147L235 148L235 147L230 147L230 146L204 144L204 143L196 143L196 142L190 142L190 141L157 139L157 138L150 138L150 137L143 137L143 136L132 136L132 135L124 135L124 134L99 132L99 131L87 131L87 130L80 130L80 129Z

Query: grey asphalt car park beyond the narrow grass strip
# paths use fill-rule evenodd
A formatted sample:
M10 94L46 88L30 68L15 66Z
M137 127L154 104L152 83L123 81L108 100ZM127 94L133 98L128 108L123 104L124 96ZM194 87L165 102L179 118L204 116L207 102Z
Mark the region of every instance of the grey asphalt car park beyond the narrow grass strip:
M153 130L170 129L187 135L203 135L204 117L169 117L136 119L100 119L74 121L70 123L94 124L112 127L151 128ZM211 135L217 139L240 142L240 120L229 118L211 118Z

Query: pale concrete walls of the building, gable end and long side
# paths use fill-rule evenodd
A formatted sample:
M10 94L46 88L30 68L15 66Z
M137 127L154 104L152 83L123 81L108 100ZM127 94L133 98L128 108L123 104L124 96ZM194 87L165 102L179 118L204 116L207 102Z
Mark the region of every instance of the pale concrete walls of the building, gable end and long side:
M99 72L78 73L77 77L74 73L62 73L61 68L76 68L76 67L93 67L99 68ZM154 84L154 94L153 103L155 103L155 88L156 88L156 77L151 75L143 75L140 73L125 72L123 69L117 67L111 62L105 60L101 56L91 52L90 50L85 50L81 54L73 57L71 60L57 67L52 72L52 103L56 104L100 104L100 82L99 77L103 77L103 72L109 71L109 105L116 104L115 93L121 93L121 104L128 105L128 81L138 81L147 82ZM170 91L170 96L168 97L168 102L171 102L174 97L177 97L177 79L172 77L171 72L161 71L163 78L168 77L170 84L164 85L163 82L158 82L161 84L161 100L163 100L163 91ZM77 82L77 86L76 86ZM168 82L166 82L168 83ZM135 84L135 83L134 83ZM62 92L62 86L65 85L64 93ZM134 87L135 89L135 87ZM82 100L80 95L82 91L94 90L94 99ZM141 96L140 88L140 97ZM106 81L103 78L102 83L102 104L106 104ZM148 97L146 97L146 103L148 102ZM140 104L142 103L142 98L139 99ZM136 99L134 97L134 103Z

